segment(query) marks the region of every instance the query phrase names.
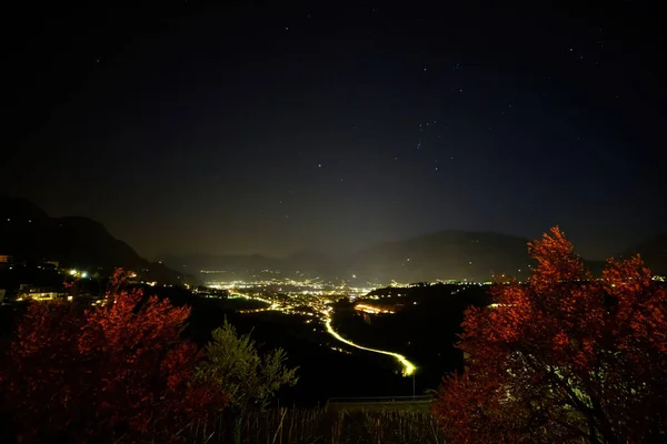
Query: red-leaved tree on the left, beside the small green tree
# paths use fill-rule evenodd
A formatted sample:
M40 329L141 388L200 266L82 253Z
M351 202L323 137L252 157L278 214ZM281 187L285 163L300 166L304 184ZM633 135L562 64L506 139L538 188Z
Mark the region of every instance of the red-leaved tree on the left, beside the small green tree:
M0 386L19 437L166 442L225 405L215 384L195 381L199 352L181 339L190 309L113 289L84 312L63 302L28 307Z

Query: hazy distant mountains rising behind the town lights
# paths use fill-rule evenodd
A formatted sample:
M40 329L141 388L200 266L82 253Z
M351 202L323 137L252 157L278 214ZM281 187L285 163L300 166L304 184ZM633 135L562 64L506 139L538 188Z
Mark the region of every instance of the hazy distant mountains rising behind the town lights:
M295 278L306 275L346 280L364 285L391 280L412 283L436 280L490 281L506 274L528 278L535 261L528 255L528 239L495 232L441 231L398 242L372 245L356 254L330 258L318 252L299 252L287 258L255 255L163 255L176 269L183 268L202 281ZM656 274L667 274L667 236L629 249L643 254ZM627 256L627 254L626 254ZM604 261L585 260L594 275L600 275ZM219 272L219 273L210 273ZM276 274L278 272L279 274Z

